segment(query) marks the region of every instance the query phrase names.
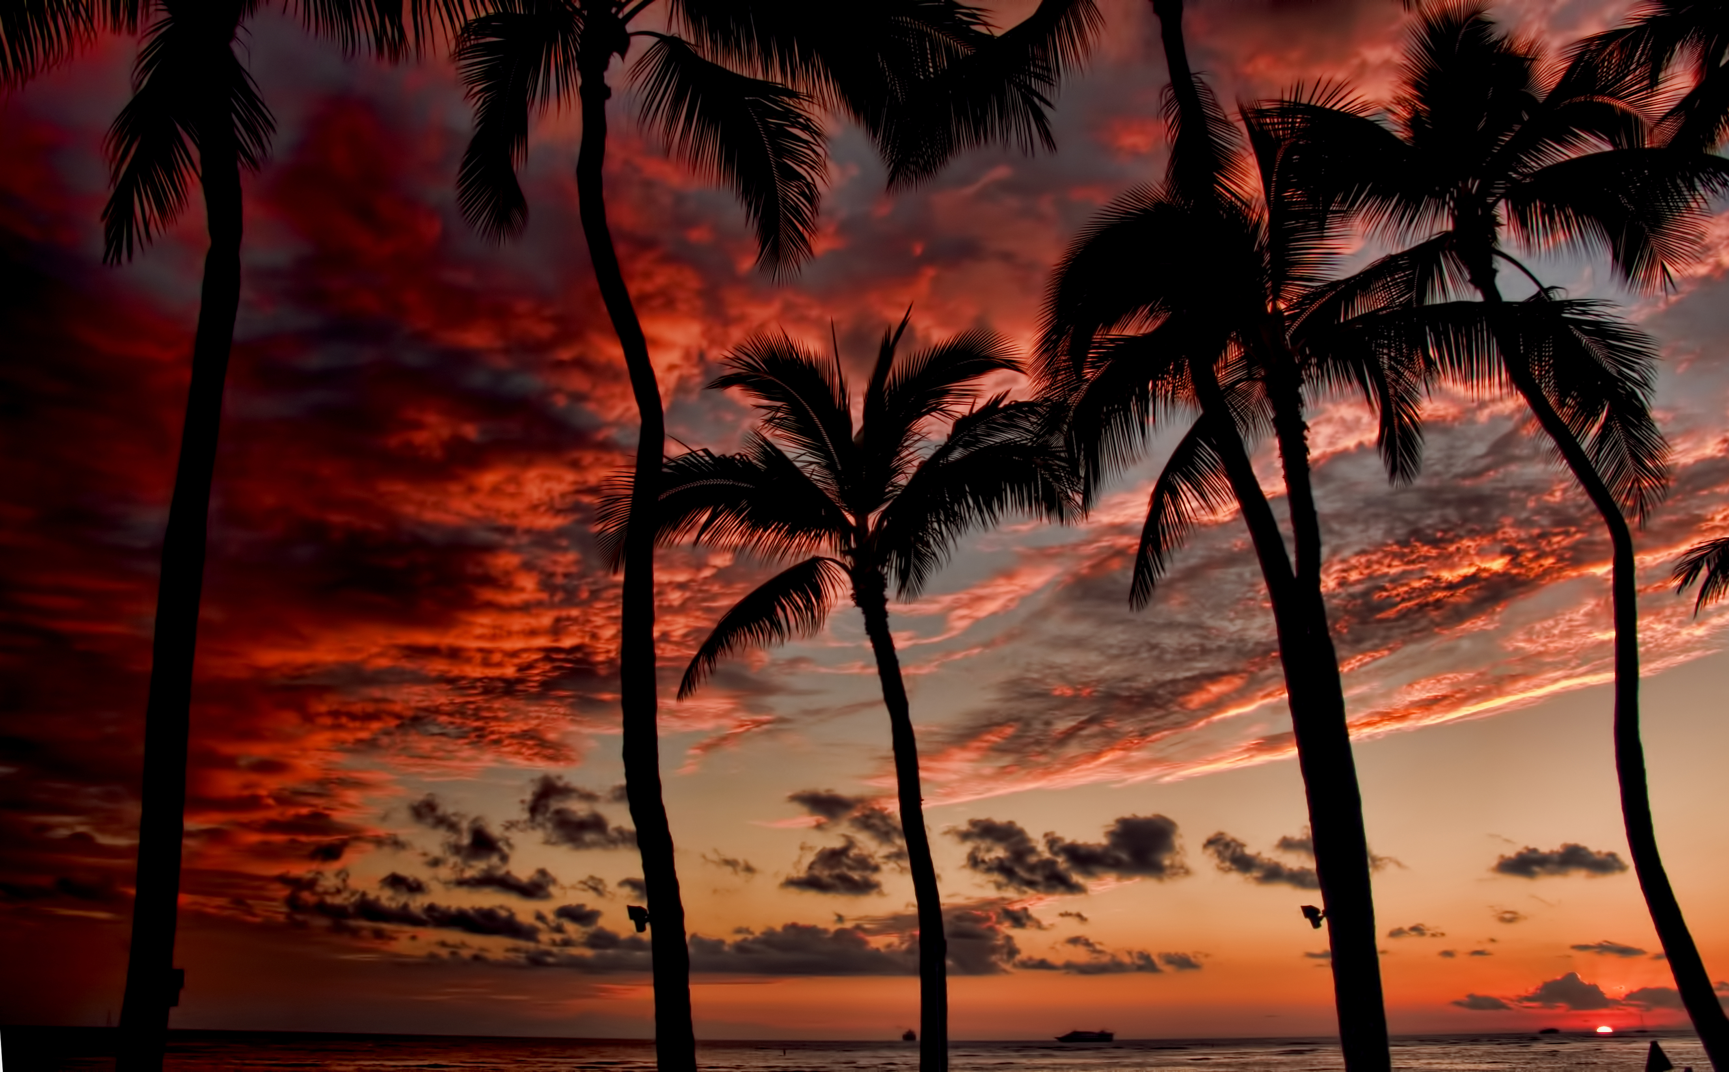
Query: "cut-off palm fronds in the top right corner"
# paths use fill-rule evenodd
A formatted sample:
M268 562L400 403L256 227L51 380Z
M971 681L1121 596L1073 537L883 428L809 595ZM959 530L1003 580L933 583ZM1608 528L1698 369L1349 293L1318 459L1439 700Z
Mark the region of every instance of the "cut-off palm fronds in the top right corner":
M1724 0L1646 0L1627 22L1582 43L1594 62L1663 88L1681 64L1693 85L1656 121L1655 142L1705 150L1729 133L1729 3Z

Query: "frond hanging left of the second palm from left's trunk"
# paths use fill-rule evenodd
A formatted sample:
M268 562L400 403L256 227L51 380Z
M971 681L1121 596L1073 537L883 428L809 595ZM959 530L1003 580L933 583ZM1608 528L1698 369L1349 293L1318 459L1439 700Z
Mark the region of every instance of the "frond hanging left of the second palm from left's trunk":
M456 206L493 242L522 232L529 206L517 183L529 112L574 92L581 10L562 0L498 0L456 41L456 73L474 105L474 137L456 173Z

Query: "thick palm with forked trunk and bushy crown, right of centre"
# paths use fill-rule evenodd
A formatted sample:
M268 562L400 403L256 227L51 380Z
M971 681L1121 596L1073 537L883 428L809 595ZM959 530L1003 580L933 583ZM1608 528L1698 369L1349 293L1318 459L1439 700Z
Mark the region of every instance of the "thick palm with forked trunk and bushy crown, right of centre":
M1432 287L1411 258L1330 282L1333 221L1286 187L1283 144L1245 116L1250 159L1188 64L1181 0L1155 0L1171 88L1171 161L1070 246L1046 308L1039 380L1067 425L1084 495L1131 462L1160 413L1198 413L1153 484L1131 603L1146 605L1198 515L1236 501L1278 626L1349 1069L1388 1067L1369 851L1343 685L1321 595L1304 392L1357 387L1380 412L1395 479L1420 455ZM1181 252L1172 252L1181 251ZM1250 463L1271 431L1295 562Z

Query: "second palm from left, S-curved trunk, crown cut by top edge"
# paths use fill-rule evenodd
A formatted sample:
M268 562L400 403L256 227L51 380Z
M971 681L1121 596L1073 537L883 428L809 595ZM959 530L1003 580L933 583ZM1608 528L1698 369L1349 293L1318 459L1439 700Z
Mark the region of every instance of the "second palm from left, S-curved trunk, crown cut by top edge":
M636 401L633 517L654 517L666 424L648 342L607 225L607 74L633 40L652 43L631 67L645 126L674 156L728 185L756 227L759 263L788 271L811 254L825 149L818 112L858 121L892 185L932 175L956 150L994 142L1053 145L1046 93L1096 29L1093 0L1041 0L1018 26L989 31L960 0L778 3L679 0L679 33L633 29L654 0L493 0L472 19L456 62L475 105L458 175L463 214L493 239L522 230L527 201L515 168L529 116L576 93L583 135L577 211ZM622 536L619 683L624 783L648 887L655 1053L664 1070L695 1069L690 953L673 833L660 795L655 731L654 526Z

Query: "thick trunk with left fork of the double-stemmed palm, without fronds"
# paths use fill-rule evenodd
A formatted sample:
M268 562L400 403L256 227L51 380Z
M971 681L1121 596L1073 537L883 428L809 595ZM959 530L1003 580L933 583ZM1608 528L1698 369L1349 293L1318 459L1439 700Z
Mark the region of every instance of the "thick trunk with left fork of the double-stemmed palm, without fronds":
M1193 372L1203 413L1214 425L1214 446L1243 510L1273 602L1279 666L1285 671L1292 733L1297 738L1297 764L1309 802L1314 870L1321 882L1328 948L1333 954L1340 1051L1349 1072L1387 1072L1392 1069L1392 1056L1375 941L1369 842L1362 828L1362 795L1357 790L1345 690L1326 621L1326 602L1321 598L1317 576L1292 574L1278 519L1255 479L1212 368L1205 361L1195 361ZM1307 479L1307 455L1286 458L1286 465L1298 467Z

